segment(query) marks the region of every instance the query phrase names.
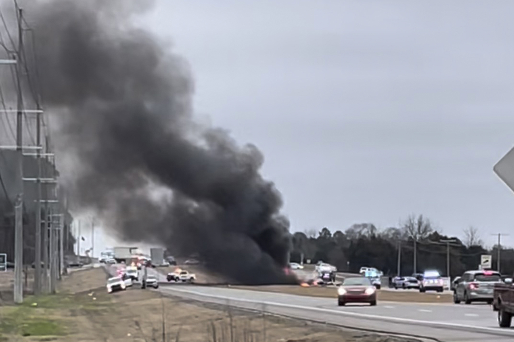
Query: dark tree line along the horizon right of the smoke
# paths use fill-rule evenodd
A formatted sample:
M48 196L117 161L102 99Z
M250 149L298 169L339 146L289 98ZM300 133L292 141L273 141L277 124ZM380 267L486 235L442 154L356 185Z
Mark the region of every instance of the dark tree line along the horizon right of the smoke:
M462 237L447 236L434 229L430 219L411 215L399 227L378 230L372 223L354 224L344 232L308 230L292 235L291 262L331 263L341 272L359 272L363 266L376 267L384 275L407 276L425 270L437 270L448 276L476 270L481 255L492 255L492 269L497 269L498 245L486 249L478 229L469 227ZM449 251L449 258L448 258ZM514 272L514 249L500 249L500 272Z

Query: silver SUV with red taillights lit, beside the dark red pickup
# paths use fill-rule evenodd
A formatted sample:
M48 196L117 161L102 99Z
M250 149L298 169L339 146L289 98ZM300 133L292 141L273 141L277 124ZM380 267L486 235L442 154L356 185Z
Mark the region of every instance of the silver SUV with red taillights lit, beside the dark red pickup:
M453 302L466 304L472 301L486 301L491 304L493 299L494 284L501 283L502 276L496 271L467 271L455 284L453 290Z

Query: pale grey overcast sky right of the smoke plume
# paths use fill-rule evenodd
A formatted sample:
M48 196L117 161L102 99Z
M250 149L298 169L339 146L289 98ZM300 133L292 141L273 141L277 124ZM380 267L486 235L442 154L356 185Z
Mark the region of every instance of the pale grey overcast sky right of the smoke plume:
M292 231L514 225L493 165L514 145L512 1L157 0L195 111L265 155ZM514 233L504 238L514 245Z

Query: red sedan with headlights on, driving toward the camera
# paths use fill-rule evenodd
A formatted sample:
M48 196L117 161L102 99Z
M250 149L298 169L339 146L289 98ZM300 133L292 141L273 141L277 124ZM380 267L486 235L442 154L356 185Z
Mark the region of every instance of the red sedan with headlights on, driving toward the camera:
M368 278L346 278L337 289L337 303L339 306L346 303L370 303L375 306L377 305L376 291Z

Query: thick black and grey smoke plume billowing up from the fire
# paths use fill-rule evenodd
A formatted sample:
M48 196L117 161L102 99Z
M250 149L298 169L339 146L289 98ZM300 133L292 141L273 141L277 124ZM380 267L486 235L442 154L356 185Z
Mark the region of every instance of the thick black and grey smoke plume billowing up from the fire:
M74 203L118 236L197 254L230 281L290 281L289 223L280 193L259 173L262 154L194 122L187 63L133 24L150 5L22 3L45 109L75 163Z

